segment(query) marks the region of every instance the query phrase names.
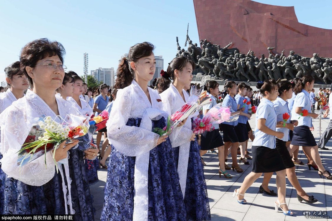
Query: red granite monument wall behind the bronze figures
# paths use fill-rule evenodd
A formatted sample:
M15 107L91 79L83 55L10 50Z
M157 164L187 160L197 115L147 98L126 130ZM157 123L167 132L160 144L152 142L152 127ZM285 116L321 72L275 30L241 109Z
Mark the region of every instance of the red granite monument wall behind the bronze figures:
M250 0L194 0L198 34L213 44L249 49L257 57L273 52L312 57L332 57L332 30L308 26L297 21L294 7L262 4Z

